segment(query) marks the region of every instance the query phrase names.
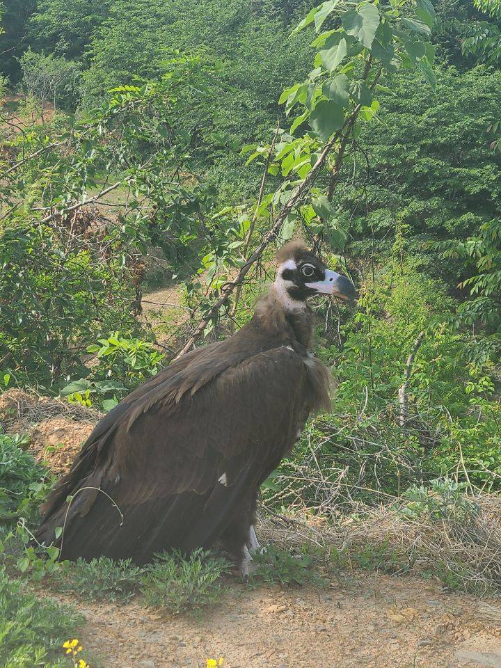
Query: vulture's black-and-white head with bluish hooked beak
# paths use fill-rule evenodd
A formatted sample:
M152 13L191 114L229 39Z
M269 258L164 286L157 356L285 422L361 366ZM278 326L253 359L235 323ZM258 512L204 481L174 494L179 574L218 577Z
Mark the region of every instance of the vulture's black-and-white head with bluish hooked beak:
M357 292L349 278L328 269L302 241L291 241L277 253L275 289L286 308L303 308L308 297L333 294L353 302Z

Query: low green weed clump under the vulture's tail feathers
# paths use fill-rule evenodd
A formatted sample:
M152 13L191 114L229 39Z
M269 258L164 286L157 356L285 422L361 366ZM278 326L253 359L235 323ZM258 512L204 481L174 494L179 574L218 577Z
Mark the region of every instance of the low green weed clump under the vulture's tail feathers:
M134 566L131 559L114 562L108 557L84 562L78 559L60 571L52 582L60 591L71 591L85 601L125 603L138 593L144 568Z

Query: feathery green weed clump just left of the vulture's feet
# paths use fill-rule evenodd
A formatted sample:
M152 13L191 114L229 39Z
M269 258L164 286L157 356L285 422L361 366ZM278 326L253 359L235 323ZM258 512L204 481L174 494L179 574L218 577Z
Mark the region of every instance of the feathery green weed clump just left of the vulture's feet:
M221 575L229 570L225 559L205 550L195 550L186 558L177 552L163 553L143 576L141 591L147 605L173 614L198 614L221 598Z

